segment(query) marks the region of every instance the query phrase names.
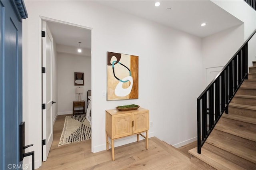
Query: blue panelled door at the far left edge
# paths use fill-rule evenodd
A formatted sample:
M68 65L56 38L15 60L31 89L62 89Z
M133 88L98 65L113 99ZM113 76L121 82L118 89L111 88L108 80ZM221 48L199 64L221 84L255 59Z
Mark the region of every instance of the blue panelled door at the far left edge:
M21 0L0 0L0 170L22 169L19 125L22 122Z

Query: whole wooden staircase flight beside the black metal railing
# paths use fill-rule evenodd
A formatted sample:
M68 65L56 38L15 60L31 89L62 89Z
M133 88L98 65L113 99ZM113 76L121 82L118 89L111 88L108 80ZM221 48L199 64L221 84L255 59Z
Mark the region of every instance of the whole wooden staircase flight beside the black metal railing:
M256 169L256 61L198 154L191 162L203 169Z

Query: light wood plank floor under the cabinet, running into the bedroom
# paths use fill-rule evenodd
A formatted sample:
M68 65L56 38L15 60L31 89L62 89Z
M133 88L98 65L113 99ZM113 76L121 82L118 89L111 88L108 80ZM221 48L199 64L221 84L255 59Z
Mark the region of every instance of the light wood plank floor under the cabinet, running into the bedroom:
M156 137L149 138L148 150L144 140L116 147L115 161L111 160L111 149L92 153L91 140L58 147L65 116L58 116L54 124L52 147L39 170L200 169L178 149Z

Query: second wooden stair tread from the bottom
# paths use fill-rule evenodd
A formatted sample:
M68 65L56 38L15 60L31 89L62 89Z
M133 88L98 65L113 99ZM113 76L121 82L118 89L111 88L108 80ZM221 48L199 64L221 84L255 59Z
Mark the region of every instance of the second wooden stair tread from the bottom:
M238 140L237 138L239 137L220 130L213 130L206 142L256 164L255 142L244 138Z

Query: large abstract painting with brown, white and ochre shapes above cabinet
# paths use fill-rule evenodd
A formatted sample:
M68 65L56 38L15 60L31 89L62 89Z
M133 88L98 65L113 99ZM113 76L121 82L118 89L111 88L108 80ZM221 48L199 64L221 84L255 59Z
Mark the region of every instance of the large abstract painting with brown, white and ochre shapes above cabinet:
M139 57L107 53L107 100L138 99Z

